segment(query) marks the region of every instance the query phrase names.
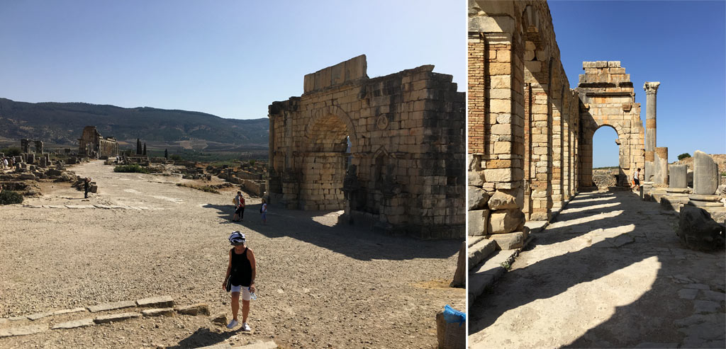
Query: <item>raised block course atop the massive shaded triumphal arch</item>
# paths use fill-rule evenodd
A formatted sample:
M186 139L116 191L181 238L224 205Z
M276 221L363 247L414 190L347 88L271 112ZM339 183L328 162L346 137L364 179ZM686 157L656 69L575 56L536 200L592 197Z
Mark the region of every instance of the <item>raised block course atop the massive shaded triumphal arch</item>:
M367 79L367 69L368 65L365 54L361 54L358 57L340 62L332 67L307 74L303 81L303 94L343 85L348 81Z

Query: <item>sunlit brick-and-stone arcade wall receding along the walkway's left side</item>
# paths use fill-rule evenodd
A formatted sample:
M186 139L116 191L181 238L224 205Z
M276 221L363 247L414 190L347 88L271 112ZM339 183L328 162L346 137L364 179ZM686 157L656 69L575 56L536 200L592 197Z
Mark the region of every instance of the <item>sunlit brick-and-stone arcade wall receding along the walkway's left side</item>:
M470 235L521 246L576 190L577 99L544 1L470 1Z

